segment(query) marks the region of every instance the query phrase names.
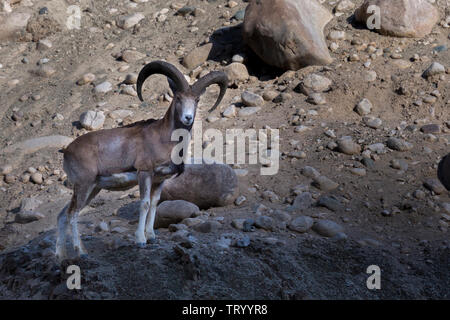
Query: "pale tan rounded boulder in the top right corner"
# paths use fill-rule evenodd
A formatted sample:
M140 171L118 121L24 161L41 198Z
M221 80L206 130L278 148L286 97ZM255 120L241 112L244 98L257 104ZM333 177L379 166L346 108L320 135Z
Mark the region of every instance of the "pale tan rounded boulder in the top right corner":
M439 11L427 0L365 0L355 12L356 21L367 26L374 16L372 5L380 8L380 28L374 30L394 37L422 38L431 33Z

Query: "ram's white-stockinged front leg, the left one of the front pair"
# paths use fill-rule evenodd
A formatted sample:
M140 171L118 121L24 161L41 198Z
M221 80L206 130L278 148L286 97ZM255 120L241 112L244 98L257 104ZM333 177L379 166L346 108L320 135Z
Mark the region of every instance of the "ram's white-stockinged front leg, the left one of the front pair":
M150 192L152 188L152 178L148 172L139 172L138 174L139 193L141 196L141 204L139 207L139 225L136 230L136 244L143 248L147 243L145 237L145 222L150 209Z

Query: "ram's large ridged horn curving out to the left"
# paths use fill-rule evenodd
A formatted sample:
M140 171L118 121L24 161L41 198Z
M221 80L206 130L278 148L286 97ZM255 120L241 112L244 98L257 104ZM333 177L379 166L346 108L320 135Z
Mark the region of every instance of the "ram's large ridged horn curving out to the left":
M136 89L141 101L144 101L144 99L142 99L142 85L152 74L165 75L170 78L181 91L187 91L189 89L189 83L184 78L184 75L173 64L164 61L153 61L145 65L141 72L139 72Z

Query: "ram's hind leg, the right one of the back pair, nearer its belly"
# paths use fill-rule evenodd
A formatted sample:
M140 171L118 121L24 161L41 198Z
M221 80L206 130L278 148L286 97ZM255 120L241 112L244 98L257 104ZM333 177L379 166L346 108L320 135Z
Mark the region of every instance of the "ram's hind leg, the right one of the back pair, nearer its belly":
M73 247L79 257L85 256L86 251L78 232L78 216L86 205L100 192L95 183L75 185L72 201L68 210L68 218L72 227Z

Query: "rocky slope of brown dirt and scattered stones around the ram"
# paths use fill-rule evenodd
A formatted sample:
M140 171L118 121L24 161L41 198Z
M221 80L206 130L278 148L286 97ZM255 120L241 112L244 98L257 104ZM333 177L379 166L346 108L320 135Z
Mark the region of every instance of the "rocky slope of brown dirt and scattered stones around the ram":
M439 23L410 39L322 2L333 63L282 72L243 45L243 1L12 1L31 23L0 43L0 297L449 299L450 194L436 169L450 149L450 8L435 1ZM66 26L69 5L80 29ZM138 189L102 191L80 218L89 258L60 265L56 216L71 190L58 149L161 117L163 77L147 80L145 104L134 88L156 59L190 79L226 70L220 108L207 113L215 87L200 102L203 129L279 129L279 172L234 166L235 204L160 228L144 249L133 243ZM79 291L66 288L72 263ZM366 287L370 265L381 290Z

